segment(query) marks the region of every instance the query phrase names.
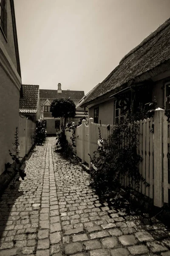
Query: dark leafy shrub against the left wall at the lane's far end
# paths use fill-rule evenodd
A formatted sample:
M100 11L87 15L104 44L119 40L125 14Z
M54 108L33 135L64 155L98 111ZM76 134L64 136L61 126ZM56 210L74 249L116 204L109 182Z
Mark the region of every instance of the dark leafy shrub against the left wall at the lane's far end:
M42 145L42 143L45 142L45 139L45 124L43 122L43 119L39 119L36 122L35 143L38 145Z

